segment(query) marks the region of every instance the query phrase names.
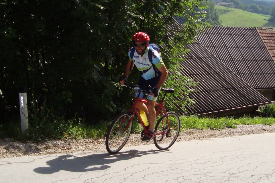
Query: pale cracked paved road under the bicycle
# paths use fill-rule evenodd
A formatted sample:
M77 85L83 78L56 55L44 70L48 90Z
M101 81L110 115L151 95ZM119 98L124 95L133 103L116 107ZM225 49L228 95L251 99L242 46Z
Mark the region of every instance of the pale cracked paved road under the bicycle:
M275 133L0 159L0 182L275 182Z

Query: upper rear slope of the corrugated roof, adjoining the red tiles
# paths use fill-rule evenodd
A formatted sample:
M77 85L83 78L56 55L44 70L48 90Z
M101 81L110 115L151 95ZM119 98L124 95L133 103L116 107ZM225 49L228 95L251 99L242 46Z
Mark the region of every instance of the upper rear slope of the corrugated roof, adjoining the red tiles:
M258 31L266 35L267 30ZM274 89L275 62L258 31L256 27L213 26L199 33L197 40L254 89ZM265 40L270 47L275 45L271 37ZM275 46L271 49L275 55Z

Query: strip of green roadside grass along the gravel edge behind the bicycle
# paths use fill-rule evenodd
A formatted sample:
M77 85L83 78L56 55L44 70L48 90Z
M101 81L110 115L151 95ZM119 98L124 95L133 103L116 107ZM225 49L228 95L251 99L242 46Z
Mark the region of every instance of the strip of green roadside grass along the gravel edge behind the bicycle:
M244 116L241 118L220 117L220 118L199 118L198 116L180 116L181 130L184 129L212 129L223 130L224 128L236 128L240 124L266 124L274 125L275 105L270 104L268 110L262 110L264 117L250 117ZM271 117L271 115L273 117ZM47 113L47 116L51 116ZM44 120L44 121L43 121ZM137 119L133 120L132 133L138 134L143 128L137 123ZM30 121L29 121L30 122ZM20 122L8 123L0 125L0 139L13 138L15 140L31 140L33 142L47 141L51 139L83 139L83 138L103 138L106 136L109 122L99 122L97 125L91 125L81 118L74 118L65 121L64 118L45 118L40 116L32 118L30 122L28 134L20 134Z

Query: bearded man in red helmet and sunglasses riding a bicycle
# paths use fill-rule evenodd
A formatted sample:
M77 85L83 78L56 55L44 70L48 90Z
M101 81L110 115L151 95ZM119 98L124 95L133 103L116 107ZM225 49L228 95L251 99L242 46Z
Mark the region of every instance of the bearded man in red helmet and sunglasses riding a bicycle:
M156 121L156 110L154 108L158 94L160 92L160 87L163 85L164 81L167 78L168 71L160 57L160 53L153 49L152 52L152 62L148 59L148 50L149 50L149 36L144 32L137 32L133 35L132 39L135 49L133 59L130 56L131 49L128 51L129 60L126 65L125 74L119 79L120 84L123 85L127 80L133 66L135 65L140 71L140 78L138 85L141 91L146 90L150 91L150 95L147 97L147 104L143 102L138 102L136 107L139 111L144 111L147 119L149 121L148 133L145 133L142 137L142 141L150 141L155 135L154 130L155 121ZM134 64L133 64L134 63ZM149 85L153 88L150 89ZM138 91L135 92L135 97L138 95ZM145 98L141 92L139 98Z

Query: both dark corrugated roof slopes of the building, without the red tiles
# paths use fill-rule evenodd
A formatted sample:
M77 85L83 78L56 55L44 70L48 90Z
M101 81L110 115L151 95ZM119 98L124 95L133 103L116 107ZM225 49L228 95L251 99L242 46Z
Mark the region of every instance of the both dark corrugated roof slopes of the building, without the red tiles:
M187 114L225 116L271 103L258 91L275 88L275 64L256 32L255 28L213 27L187 45L190 51L179 56L180 72L198 82L186 86L196 89L189 95L195 105L185 106Z

